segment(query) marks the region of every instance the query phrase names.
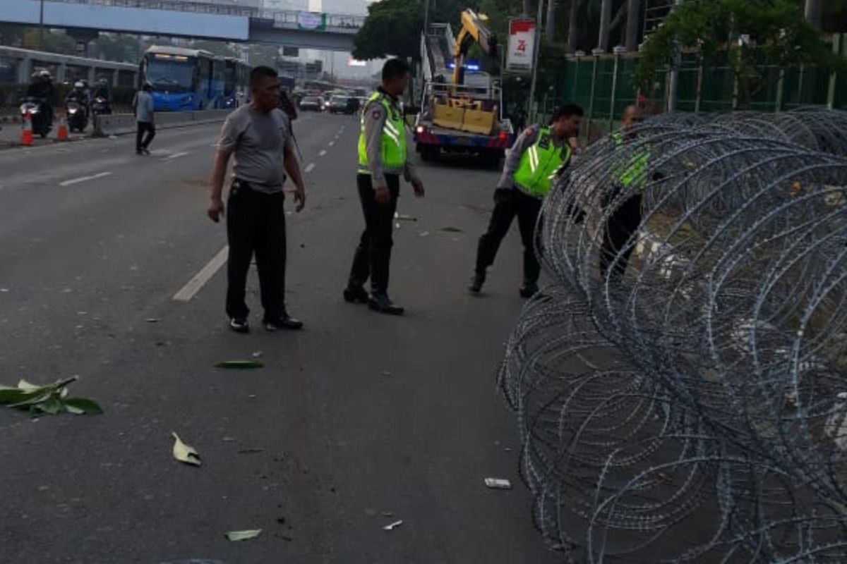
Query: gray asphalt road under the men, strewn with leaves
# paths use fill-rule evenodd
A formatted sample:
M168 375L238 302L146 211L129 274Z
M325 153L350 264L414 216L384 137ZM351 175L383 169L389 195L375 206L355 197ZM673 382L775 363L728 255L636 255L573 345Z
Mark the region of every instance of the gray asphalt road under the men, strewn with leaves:
M0 383L79 375L72 392L105 410L0 411L0 561L557 561L532 527L494 386L522 304L517 233L487 293L465 291L496 172L419 165L427 198L404 186L400 212L417 221L399 222L392 264L407 315L380 316L341 298L363 227L357 121L303 116L288 302L307 326L259 329L252 273L241 336L226 327L223 270L174 300L224 248L205 217L218 127L161 131L150 157L130 137L0 151ZM258 353L262 370L213 368ZM174 460L171 431L202 467Z

